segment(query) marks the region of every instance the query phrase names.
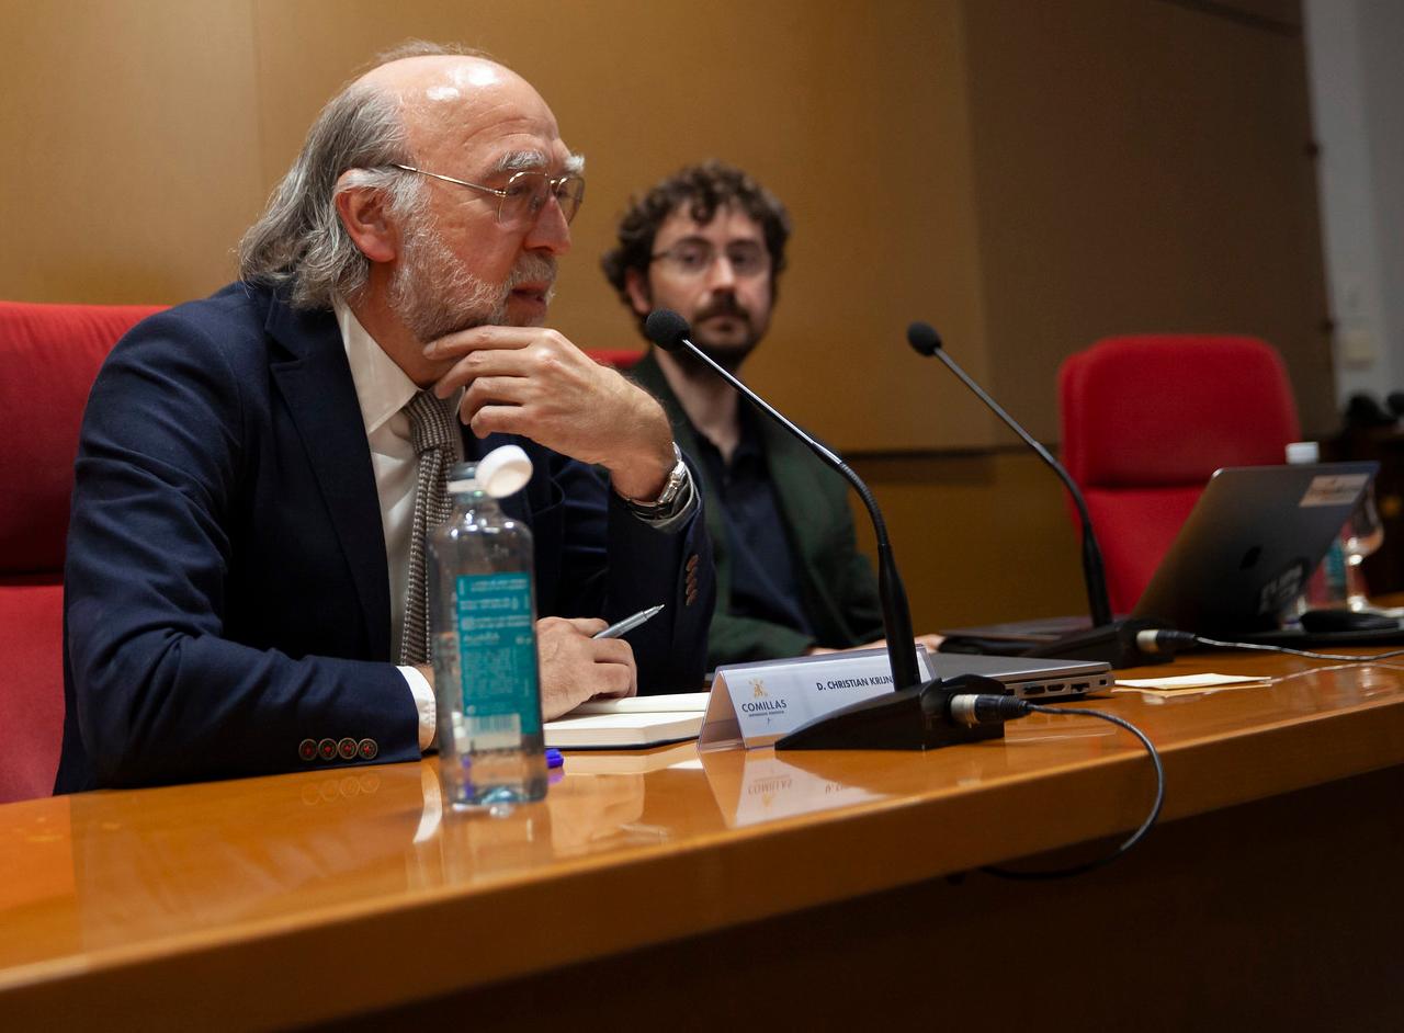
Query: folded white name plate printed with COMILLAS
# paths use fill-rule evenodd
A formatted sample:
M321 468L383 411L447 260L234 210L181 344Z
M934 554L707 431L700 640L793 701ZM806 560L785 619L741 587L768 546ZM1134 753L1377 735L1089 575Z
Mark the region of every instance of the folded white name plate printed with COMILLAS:
M931 678L922 647L917 669ZM767 747L806 721L885 692L892 692L885 648L719 667L698 749Z

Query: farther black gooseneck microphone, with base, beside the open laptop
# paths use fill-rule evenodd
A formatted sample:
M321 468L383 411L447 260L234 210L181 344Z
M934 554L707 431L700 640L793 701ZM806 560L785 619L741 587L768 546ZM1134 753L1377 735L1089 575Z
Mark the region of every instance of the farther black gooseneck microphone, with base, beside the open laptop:
M1137 647L1136 633L1154 626L1150 620L1113 620L1112 605L1106 594L1106 571L1102 566L1102 549L1097 543L1097 533L1092 531L1092 516L1087 511L1087 500L1073 480L1067 467L1039 444L1033 435L1024 429L1019 422L1009 415L1004 407L977 385L960 365L946 354L941 344L941 335L929 323L913 323L907 327L907 344L913 351L927 358L935 356L945 364L946 369L956 375L970 392L986 404L1004 424L1019 435L1025 445L1033 449L1063 481L1073 505L1077 508L1078 521L1082 525L1082 581L1087 587L1087 605L1092 618L1092 627L1087 632L1075 632L1063 636L1052 643L1035 646L1026 650L1028 655L1068 658L1068 660L1105 660L1112 667L1134 667L1140 664L1158 664L1170 660L1170 655L1146 653Z

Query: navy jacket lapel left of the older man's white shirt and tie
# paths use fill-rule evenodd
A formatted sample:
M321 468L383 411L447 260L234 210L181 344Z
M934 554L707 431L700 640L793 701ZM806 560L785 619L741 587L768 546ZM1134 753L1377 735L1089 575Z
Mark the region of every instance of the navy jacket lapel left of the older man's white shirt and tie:
M371 655L390 658L390 585L385 531L355 382L331 313L299 313L275 298L265 328L286 351L271 365L302 438L316 490L341 543Z

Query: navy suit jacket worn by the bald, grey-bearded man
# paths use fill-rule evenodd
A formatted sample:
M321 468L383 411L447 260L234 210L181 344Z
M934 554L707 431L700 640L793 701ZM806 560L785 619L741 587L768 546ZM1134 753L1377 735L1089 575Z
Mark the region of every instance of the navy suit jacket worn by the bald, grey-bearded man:
M465 432L465 455L505 441ZM535 473L503 508L532 529L538 613L615 620L665 602L629 636L640 691L698 686L715 599L703 521L657 531L591 467L515 441ZM63 633L55 792L327 764L303 759L309 738L420 755L330 312L234 284L118 342L83 418Z

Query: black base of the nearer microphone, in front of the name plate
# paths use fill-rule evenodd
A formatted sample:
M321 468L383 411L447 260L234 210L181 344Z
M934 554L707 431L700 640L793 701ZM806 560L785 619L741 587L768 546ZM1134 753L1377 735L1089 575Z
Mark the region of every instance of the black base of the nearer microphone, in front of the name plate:
M1002 682L981 675L934 679L863 699L816 717L776 740L776 749L939 749L1004 738L1004 724L967 727L951 720L951 696L1004 695Z

